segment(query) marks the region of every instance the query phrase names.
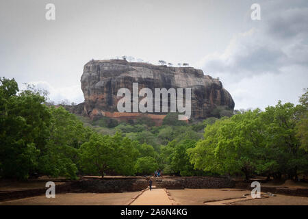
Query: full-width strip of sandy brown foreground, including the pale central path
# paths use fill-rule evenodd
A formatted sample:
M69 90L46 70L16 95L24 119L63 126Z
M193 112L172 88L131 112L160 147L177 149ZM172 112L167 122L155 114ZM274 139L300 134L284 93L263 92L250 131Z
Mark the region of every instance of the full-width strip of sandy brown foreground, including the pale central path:
M267 196L252 199L250 191L236 189L185 189L168 190L176 203L181 205L308 205L308 197ZM14 201L4 201L0 205L127 205L140 192L123 193L66 193L55 198L34 196ZM246 198L243 196L248 194ZM171 205L164 189L144 191L131 205Z

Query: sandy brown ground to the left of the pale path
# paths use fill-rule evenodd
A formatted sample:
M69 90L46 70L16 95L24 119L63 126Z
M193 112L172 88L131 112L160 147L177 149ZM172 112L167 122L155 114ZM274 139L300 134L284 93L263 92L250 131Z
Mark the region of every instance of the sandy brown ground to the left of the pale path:
M139 193L66 193L55 194L55 198L35 196L5 201L0 205L127 205L131 198Z

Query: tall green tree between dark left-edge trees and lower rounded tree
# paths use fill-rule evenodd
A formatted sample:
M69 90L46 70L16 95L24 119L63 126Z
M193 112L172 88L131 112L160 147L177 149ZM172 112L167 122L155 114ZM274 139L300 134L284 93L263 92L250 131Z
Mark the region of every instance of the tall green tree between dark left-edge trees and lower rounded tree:
M77 178L78 149L90 138L89 128L64 107L50 107L51 125L46 148L41 151L38 170L52 177Z

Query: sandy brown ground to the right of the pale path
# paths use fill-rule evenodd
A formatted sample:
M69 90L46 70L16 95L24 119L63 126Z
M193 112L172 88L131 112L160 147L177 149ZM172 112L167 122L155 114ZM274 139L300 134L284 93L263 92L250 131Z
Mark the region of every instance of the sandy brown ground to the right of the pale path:
M185 189L168 190L170 196L181 205L308 205L308 197L269 196L251 199L248 190L236 189ZM215 202L215 203L214 203Z

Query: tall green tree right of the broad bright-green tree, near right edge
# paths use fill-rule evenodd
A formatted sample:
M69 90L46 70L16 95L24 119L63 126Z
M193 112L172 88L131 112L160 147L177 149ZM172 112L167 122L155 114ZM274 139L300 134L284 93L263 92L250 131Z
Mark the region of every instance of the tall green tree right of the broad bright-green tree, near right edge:
M268 121L266 127L266 143L274 153L274 160L279 165L279 176L287 174L290 179L298 178L298 170L307 170L307 153L300 148L300 141L296 138L296 123L298 122L298 107L292 103L275 107L267 107L264 119ZM268 155L268 156L270 156Z

